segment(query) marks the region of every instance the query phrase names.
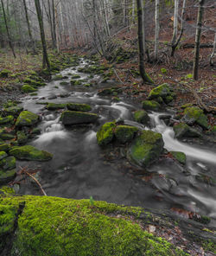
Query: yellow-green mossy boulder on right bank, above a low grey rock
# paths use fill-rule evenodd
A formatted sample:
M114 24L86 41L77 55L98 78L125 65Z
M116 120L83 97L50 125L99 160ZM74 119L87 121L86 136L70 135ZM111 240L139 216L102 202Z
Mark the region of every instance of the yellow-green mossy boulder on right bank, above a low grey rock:
M181 118L181 120L187 125L194 125L194 123L196 123L204 129L209 128L206 115L203 113L203 110L196 106L187 107L184 110L184 116Z

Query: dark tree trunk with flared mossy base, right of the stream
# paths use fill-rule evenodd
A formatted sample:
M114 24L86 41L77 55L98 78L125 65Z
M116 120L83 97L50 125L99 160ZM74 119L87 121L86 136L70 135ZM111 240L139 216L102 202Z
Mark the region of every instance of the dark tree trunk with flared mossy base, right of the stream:
M142 0L137 0L137 18L138 18L138 44L139 44L139 72L143 82L153 83L144 68L144 49L143 49L143 9Z

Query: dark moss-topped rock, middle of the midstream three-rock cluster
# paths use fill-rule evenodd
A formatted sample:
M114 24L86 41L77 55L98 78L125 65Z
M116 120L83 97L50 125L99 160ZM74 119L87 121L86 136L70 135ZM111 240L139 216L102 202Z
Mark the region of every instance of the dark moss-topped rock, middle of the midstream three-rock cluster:
M118 125L115 129L115 136L119 142L126 143L134 138L137 131L138 128L134 126Z

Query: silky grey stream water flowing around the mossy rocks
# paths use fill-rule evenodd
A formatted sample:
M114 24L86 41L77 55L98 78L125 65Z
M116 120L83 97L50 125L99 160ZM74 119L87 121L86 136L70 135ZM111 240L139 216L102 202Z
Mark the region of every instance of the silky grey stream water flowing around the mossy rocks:
M79 67L84 67L81 61ZM88 79L87 74L77 69L67 68L62 75L73 74L80 79ZM60 81L51 81L42 87L38 95L22 100L22 106L41 115L38 126L41 135L29 144L54 154L47 163L35 163L41 169L38 179L48 195L68 198L90 198L125 205L148 208L184 208L198 214L216 219L216 149L213 146L196 146L182 143L174 138L174 131L165 125L160 116L164 113L151 112L151 128L132 120L132 112L138 109L136 104L98 97L98 88L113 86L113 83L101 84L99 77L91 80L94 86L60 86ZM63 97L63 98L62 98ZM94 125L64 127L60 123L60 111L50 112L40 102L86 103L92 106L92 112L98 113L98 122ZM167 114L167 113L166 113ZM123 154L107 160L104 151L98 147L96 132L100 125L113 119L124 119L124 123L135 125L139 129L151 129L162 133L167 150L182 151L187 155L187 164L182 167L171 158L163 157L153 164L148 173L133 167ZM124 149L122 149L124 151ZM113 151L113 155L115 152ZM22 166L33 163L20 162ZM146 179L146 176L150 176ZM20 193L33 194L33 184L21 185Z

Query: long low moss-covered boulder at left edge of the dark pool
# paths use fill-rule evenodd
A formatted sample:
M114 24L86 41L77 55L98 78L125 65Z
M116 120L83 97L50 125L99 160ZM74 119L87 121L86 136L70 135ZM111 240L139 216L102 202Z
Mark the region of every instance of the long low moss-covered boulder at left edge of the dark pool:
M9 154L19 160L29 161L48 161L53 158L53 155L44 150L38 150L31 145L22 147L13 147Z

